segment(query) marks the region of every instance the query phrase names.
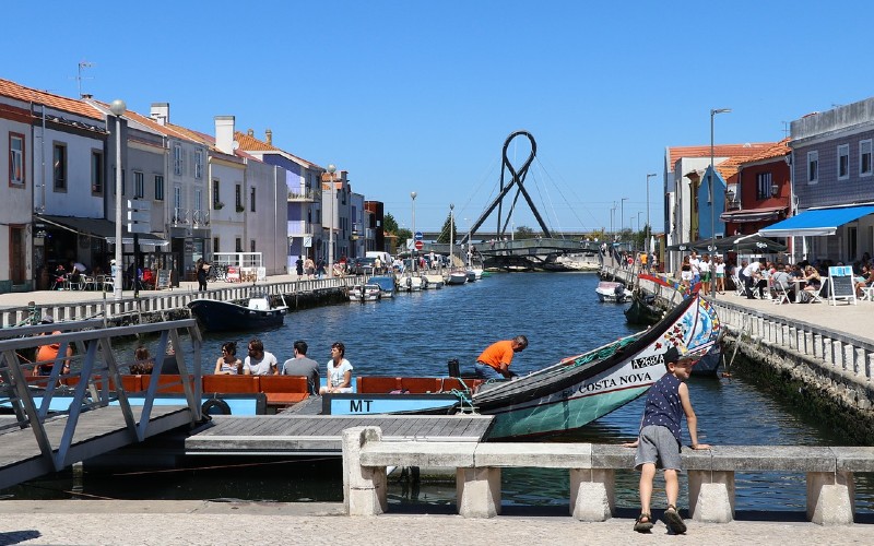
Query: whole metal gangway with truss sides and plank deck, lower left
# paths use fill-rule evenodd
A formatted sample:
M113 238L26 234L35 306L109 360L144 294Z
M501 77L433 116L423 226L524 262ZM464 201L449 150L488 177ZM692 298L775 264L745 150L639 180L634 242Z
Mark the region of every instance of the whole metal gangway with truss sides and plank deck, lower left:
M113 352L115 340L131 336L152 340L147 343L158 356L141 392L128 392L122 377L134 356L119 364ZM33 357L35 347L51 344L61 347L54 361ZM0 489L198 423L201 345L193 319L118 328L90 320L0 330ZM68 346L73 347L69 357ZM175 359L176 383L167 382L167 375L162 380L165 355ZM34 375L36 366L49 365L48 375ZM179 394L157 396L168 388Z

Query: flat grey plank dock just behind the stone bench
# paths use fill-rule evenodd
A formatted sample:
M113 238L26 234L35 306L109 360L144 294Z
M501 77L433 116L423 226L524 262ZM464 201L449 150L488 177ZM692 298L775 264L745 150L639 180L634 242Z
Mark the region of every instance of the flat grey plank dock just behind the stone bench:
M309 455L342 451L343 430L376 426L385 441L482 441L492 416L484 415L259 415L213 416L185 440L187 454Z

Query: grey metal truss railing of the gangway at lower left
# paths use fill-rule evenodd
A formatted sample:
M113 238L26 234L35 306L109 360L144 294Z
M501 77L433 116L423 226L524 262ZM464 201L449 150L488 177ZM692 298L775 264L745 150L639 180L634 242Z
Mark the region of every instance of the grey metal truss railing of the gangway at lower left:
M165 355L175 359L181 382L179 405L186 405L190 423L201 419L201 346L197 321L193 319L118 328L101 328L102 321L39 324L0 331L0 408L14 414L0 426L0 434L10 429L33 430L42 456L60 471L73 462L71 446L83 414L118 406L123 417L130 443L150 436L150 418L158 390L175 387L161 381ZM67 330L67 331L64 331ZM15 337L10 337L11 335ZM158 361L152 366L149 387L138 392L138 404L131 404L122 379L122 368L113 351L118 339L157 336L150 343ZM37 346L60 347L54 360L31 356ZM67 356L66 347L74 347ZM175 348L175 351L174 351ZM37 351L36 354L39 354ZM191 358L190 369L187 357ZM131 361L133 355L131 355ZM69 368L64 364L69 364ZM48 375L35 375L35 368L50 368ZM187 380L190 378L190 380ZM177 388L178 389L178 388ZM184 399L184 400L182 400ZM55 403L52 403L55 402ZM142 404L140 406L139 404ZM47 424L66 418L60 439L47 432Z

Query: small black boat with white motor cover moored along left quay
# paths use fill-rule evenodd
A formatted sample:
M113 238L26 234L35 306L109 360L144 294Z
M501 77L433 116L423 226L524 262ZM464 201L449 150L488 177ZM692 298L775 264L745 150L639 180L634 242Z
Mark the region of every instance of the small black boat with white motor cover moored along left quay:
M281 327L288 313L287 306L274 307L270 296L263 292L253 293L245 306L216 299L196 299L188 307L203 329L211 332Z

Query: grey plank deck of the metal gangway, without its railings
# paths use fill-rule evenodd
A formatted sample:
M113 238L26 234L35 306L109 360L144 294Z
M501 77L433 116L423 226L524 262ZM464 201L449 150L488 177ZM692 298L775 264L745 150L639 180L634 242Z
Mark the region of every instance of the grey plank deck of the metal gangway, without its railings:
M0 422L10 423L14 423L14 418ZM154 406L146 429L147 436L190 424L191 412L188 406ZM67 417L47 419L44 427L51 444L59 446L67 427ZM79 416L67 459L72 464L133 442L137 442L137 437L128 429L121 408L99 407ZM55 471L51 461L40 452L31 428L10 429L0 434L0 489Z

